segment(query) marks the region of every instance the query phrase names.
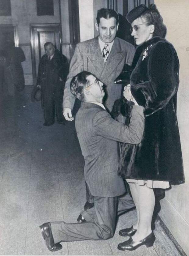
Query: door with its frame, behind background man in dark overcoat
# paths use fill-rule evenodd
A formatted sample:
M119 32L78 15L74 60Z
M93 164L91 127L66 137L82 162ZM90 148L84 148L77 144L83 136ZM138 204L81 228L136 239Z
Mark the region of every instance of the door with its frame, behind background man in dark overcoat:
M32 50L32 69L33 82L37 82L37 72L39 61L45 54L44 44L52 42L55 48L62 51L60 42L59 24L31 25L31 50Z

